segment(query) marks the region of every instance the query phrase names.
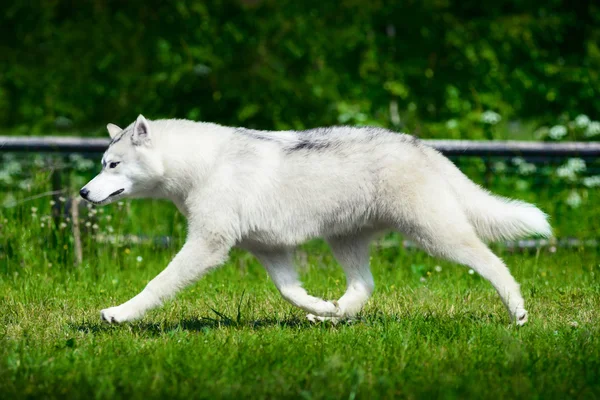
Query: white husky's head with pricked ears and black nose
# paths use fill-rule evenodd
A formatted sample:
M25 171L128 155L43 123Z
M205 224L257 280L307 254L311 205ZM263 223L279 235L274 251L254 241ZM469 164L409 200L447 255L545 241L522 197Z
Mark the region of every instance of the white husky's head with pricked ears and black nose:
M153 146L151 122L140 115L125 129L106 126L112 141L102 157L102 171L80 191L90 203L104 205L123 197L147 197L163 174Z

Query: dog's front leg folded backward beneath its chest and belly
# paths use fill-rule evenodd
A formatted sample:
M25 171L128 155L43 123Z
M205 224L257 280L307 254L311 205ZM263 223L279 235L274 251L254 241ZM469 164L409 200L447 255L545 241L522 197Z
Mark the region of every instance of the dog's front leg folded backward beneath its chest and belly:
M337 302L325 301L309 295L302 287L296 272L292 252L288 250L255 252L254 255L266 268L284 299L306 312L322 317L341 315Z

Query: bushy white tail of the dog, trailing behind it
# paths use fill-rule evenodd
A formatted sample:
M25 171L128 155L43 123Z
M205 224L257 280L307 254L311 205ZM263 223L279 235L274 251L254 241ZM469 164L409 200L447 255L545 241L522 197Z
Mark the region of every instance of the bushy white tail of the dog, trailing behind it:
M528 235L550 237L548 216L533 204L496 196L467 178L450 160L436 150L434 164L440 167L463 205L477 236L484 241L511 240ZM435 155L434 155L435 154Z

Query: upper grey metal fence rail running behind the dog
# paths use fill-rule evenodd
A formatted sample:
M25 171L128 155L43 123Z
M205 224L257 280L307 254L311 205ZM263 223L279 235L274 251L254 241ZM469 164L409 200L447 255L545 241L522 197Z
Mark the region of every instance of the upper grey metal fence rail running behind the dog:
M423 140L447 156L600 157L600 143L514 140ZM110 139L60 136L0 136L0 152L102 153Z

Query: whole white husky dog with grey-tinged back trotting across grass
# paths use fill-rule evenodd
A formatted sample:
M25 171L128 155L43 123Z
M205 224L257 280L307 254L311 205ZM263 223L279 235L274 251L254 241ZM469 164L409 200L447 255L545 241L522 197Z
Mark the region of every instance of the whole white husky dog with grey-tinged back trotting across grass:
M519 284L484 242L549 236L547 216L490 194L410 135L351 127L269 132L141 115L125 129L107 129L112 141L102 172L81 196L97 205L170 199L189 223L167 268L131 300L101 311L109 323L160 306L222 264L234 246L252 252L310 320L351 318L374 288L369 242L390 230L474 269L516 324L527 321ZM309 295L294 269L294 248L314 237L328 242L346 273L337 301Z

